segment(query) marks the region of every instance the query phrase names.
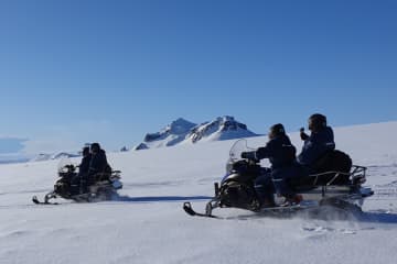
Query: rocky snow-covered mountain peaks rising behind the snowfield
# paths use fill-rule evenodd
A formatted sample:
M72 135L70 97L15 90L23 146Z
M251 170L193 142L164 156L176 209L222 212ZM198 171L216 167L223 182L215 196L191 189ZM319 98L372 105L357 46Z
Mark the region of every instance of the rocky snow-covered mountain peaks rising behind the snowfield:
M195 124L182 118L173 121L160 132L148 133L142 143L135 150L157 148L178 144L193 144L197 142L224 141L256 136L247 125L236 121L233 117L219 117L211 122Z

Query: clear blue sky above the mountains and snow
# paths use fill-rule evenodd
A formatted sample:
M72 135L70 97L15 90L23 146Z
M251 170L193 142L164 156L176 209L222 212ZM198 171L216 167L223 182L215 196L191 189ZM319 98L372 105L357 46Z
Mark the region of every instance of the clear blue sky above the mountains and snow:
M180 117L257 133L313 112L397 120L396 13L391 0L3 0L0 139L14 147L0 153L116 150Z

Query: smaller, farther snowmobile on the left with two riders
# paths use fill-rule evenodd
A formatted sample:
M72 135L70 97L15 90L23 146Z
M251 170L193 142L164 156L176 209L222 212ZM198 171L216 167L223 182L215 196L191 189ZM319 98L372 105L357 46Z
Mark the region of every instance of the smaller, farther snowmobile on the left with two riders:
M111 200L117 195L117 190L122 188L120 182L121 172L112 170L108 166L106 172L94 175L94 184L84 190L82 183L73 183L72 180L77 176L77 168L78 166L74 165L68 158L62 160L58 165L58 179L55 182L54 189L44 196L44 201L40 201L36 196L33 196L32 201L36 205L57 205L57 202L51 200L58 197L77 202Z

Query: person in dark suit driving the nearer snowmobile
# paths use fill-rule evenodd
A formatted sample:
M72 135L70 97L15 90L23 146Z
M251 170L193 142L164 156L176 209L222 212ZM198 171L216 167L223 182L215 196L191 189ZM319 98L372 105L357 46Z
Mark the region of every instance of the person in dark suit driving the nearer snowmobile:
M301 196L293 193L287 179L303 176L301 166L296 162L296 147L291 144L281 123L270 127L269 141L264 147L254 152L243 152L242 157L248 160L269 158L270 173L256 178L255 187L264 207L273 207L273 188L279 196L286 197L286 205L299 204Z

